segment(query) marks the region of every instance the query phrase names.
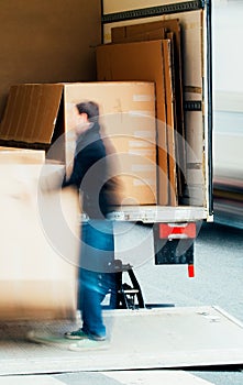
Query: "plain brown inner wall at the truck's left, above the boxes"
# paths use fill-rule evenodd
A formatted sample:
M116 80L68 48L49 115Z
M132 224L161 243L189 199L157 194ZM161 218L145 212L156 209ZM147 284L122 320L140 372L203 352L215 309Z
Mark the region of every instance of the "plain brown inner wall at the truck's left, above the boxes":
M100 0L1 1L0 120L13 84L96 79L100 8Z

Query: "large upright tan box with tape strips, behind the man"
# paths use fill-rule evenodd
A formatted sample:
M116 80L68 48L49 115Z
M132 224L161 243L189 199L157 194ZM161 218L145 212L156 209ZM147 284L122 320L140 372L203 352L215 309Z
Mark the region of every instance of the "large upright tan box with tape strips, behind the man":
M156 204L156 147L154 84L108 81L65 85L65 127L71 129L76 103L100 107L103 136L117 152L124 204Z

